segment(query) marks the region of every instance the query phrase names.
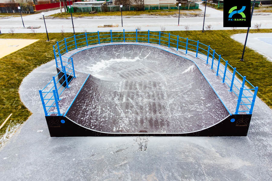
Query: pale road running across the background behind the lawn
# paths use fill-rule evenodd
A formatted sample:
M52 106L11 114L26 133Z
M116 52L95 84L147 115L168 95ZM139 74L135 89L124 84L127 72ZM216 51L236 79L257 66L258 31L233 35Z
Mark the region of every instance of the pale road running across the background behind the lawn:
M41 15L37 14L35 18L23 17L25 27L28 26L41 26L37 29L37 33L45 32L45 26L43 19L39 19ZM22 26L21 17L1 19L0 28L2 33L8 33L10 28L15 29L15 33L30 33L29 29L25 29ZM136 27L141 27L141 30L161 30L161 26L164 26L167 30L185 30L184 25L189 25L189 30L202 30L203 17L184 17L180 18L180 26L177 26L178 18L123 18L123 27L121 27L121 18L112 19L74 19L74 27L76 32L82 32L86 29L91 31L103 31L103 30L135 30ZM272 28L272 15L267 16L254 16L252 18L252 28L255 23L261 23L261 28ZM118 24L119 27L112 28L98 28L103 24ZM223 17L206 17L205 26L207 24L212 25L213 30L228 30L230 27L223 27ZM50 33L57 33L63 29L65 32L73 32L72 22L70 19L46 19L47 30ZM238 27L237 29L246 29L246 27Z

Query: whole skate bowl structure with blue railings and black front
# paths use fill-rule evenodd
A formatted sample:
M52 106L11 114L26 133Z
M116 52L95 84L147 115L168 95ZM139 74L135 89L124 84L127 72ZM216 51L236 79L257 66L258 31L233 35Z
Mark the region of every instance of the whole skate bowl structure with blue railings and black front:
M210 66L237 97L235 112L173 51ZM39 90L51 136L247 135L258 87L199 41L111 30L64 38L53 52L57 75Z

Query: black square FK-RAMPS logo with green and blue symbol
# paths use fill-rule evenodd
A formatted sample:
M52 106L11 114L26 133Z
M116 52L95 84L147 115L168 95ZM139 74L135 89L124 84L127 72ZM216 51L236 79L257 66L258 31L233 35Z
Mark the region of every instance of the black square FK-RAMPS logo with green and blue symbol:
M251 1L224 1L224 27L250 27Z

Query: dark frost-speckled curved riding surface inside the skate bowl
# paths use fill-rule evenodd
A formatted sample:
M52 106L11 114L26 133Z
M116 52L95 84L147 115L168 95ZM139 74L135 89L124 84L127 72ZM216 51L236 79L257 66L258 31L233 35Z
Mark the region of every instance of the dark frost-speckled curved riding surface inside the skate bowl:
M194 62L144 45L99 46L73 56L90 74L66 117L109 133L184 133L229 115Z

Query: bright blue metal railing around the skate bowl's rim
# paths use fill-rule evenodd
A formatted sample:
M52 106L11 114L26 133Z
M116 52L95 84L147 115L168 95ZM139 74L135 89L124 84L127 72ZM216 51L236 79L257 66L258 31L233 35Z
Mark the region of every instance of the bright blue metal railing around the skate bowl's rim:
M189 40L188 38L179 37L176 35L171 35L170 33L157 32L157 31L127 31L123 30L123 32L113 32L111 31L103 31L103 32L93 32L93 33L84 33L80 35L74 35L73 37L64 38L60 42L57 42L53 46L53 52L55 56L56 66L61 66L61 72L63 72L63 76L65 76L65 82L67 88L70 80L68 82L68 78L66 73L70 76L73 73L73 77L75 77L75 71L73 66L73 59L62 56L64 53L69 52L73 49L78 49L82 46L89 46L93 44L101 44L101 43L112 43L112 42L145 42L145 43L155 43L159 45L164 45L167 47L171 47L176 49L176 51L183 51L186 54L192 54L200 59L203 59L206 64L210 65L211 69L215 71L215 75L219 76L222 79L222 83L226 84L229 87L229 91L233 92L237 97L237 105L235 114L239 114L241 112L245 112L248 114L252 114L254 102L257 96L258 87L254 87L245 76L242 76L236 68L233 68L229 65L228 61L225 61L221 55L218 55L214 49L210 46L207 46L199 41ZM59 45L62 43L61 45ZM199 56L202 55L202 56ZM204 58L203 58L204 57ZM67 62L63 61L63 58L67 59ZM66 64L63 66L64 63ZM66 68L68 71L66 71ZM230 69L230 70L229 70ZM70 71L70 72L69 72ZM56 76L55 76L56 77ZM55 81L55 77L47 84L47 88L49 91L40 90L40 97L43 103L45 115L56 113L61 115L58 107L59 95L64 91L60 88L57 88L57 83L59 81ZM240 81L240 79L242 81ZM51 84L53 81L53 84ZM245 84L249 88L245 87ZM52 87L50 87L51 85ZM60 84L61 87L62 84ZM51 97L45 99L44 94L46 96L50 93ZM54 98L53 98L54 97ZM48 100L45 103L44 100ZM48 104L49 101L53 101ZM57 107L57 112L50 112L50 108ZM228 108L226 107L228 110ZM229 111L228 111L229 112ZM230 113L230 112L229 112ZM231 113L230 113L231 114Z

